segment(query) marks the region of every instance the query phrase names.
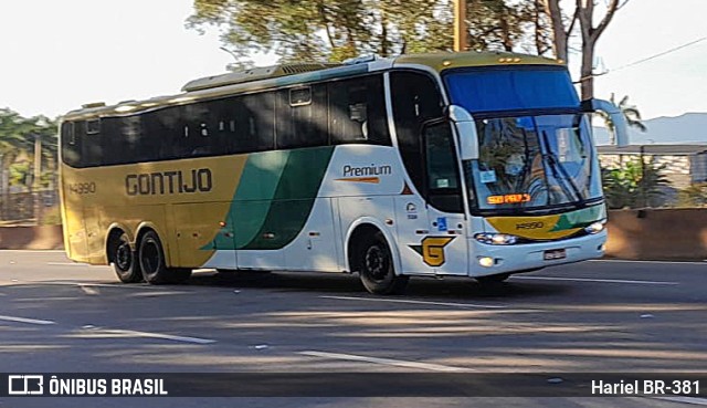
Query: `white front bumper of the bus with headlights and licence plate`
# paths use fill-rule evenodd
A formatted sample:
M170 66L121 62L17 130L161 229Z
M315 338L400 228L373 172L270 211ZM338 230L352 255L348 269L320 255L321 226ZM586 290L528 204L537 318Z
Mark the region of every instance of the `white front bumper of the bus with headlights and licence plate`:
M605 230L597 234L568 240L516 245L490 245L469 239L468 275L476 278L523 272L597 259L603 257L605 243ZM563 258L548 259L562 254Z

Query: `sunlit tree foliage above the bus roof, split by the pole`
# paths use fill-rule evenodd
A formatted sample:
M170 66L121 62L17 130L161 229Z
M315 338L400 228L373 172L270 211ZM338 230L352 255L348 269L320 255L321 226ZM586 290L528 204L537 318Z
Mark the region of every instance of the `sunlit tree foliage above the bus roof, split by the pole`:
M467 3L473 50L549 50L549 22L536 0ZM194 0L187 25L217 27L240 59L274 51L283 62L333 61L451 50L450 0ZM535 28L538 28L538 35Z

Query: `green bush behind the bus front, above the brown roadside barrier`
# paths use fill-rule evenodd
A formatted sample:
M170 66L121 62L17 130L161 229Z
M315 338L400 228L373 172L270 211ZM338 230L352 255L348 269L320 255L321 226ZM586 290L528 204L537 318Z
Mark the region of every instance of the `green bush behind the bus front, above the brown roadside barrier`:
M662 174L665 165L656 166L648 161L641 166L641 159L635 158L622 166L602 169L604 197L609 208L650 207L663 196L661 188L669 185Z

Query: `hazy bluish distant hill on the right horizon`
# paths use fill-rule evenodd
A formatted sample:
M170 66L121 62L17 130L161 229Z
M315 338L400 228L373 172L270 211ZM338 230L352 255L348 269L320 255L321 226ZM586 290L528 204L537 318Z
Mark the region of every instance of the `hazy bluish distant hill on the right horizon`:
M661 116L643 122L645 133L629 128L632 145L707 143L707 113L686 113L676 117ZM598 145L609 144L609 132L594 127Z

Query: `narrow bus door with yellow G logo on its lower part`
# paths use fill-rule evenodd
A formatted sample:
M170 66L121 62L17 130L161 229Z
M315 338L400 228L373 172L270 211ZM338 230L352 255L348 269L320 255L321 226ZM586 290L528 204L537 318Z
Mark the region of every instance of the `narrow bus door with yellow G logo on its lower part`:
M429 230L423 259L437 274L466 275L466 220L452 128L447 122L435 122L424 126L422 138Z

